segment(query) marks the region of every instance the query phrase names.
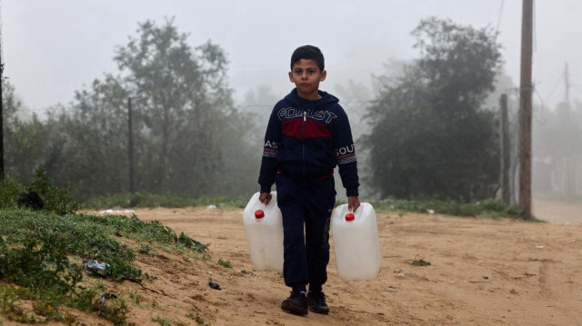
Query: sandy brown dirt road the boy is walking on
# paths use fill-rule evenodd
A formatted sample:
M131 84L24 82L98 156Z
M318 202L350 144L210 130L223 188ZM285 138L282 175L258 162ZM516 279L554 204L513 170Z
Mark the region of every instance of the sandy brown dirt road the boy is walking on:
M110 291L140 296L129 319L138 325L158 325L152 321L156 317L173 325L196 325L192 316L215 326L582 325L579 222L378 213L382 255L378 278L342 282L336 273L332 234L324 288L330 314L298 317L280 310L288 295L281 275L253 269L242 210L159 208L134 213L209 243L212 256L205 262L167 252L143 255L136 265L156 280L143 286L106 282ZM420 258L430 266L410 264ZM218 265L219 259L233 268ZM211 289L208 277L223 290Z

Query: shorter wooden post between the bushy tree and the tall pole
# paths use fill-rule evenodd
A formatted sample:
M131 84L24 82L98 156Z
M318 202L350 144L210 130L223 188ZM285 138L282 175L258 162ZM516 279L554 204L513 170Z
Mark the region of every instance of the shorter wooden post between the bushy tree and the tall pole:
M506 205L511 204L511 193L509 187L509 164L510 164L510 142L509 123L507 118L507 94L501 94L499 98L499 137L501 140L501 201Z

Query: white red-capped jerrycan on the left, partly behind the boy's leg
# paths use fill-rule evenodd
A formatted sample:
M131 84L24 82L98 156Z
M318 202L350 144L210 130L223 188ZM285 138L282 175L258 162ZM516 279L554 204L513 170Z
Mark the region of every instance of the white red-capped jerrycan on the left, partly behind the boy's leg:
M251 261L257 271L283 272L283 219L276 205L276 192L271 202L264 205L255 193L243 212L246 242Z

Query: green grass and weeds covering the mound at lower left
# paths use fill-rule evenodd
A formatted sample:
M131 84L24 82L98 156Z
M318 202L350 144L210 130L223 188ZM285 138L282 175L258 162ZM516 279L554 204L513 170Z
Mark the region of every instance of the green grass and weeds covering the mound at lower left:
M83 282L83 260L106 262L104 277L111 281L142 282L147 275L133 265L140 248L130 248L119 235L152 250L189 251L206 255L206 245L182 233L176 235L160 222L142 222L135 216L95 216L24 209L0 212L0 314L11 321L72 322L61 312L66 306L95 313L115 325L125 325L129 310L123 297L99 304L99 283ZM33 302L33 310L21 302ZM135 298L129 300L135 301Z

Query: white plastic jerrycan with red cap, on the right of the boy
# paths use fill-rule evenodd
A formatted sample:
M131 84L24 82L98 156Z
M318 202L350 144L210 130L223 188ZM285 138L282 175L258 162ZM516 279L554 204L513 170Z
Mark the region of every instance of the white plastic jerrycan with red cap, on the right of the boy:
M336 207L331 222L337 274L343 281L373 280L380 271L380 244L376 212L361 203L356 212L347 204Z

